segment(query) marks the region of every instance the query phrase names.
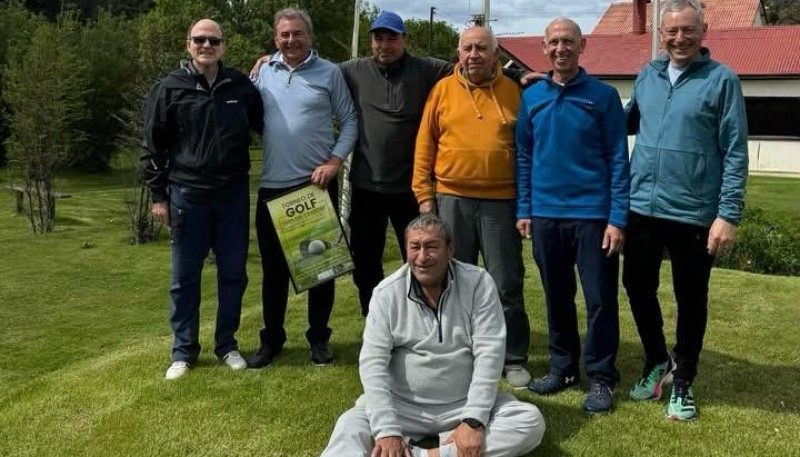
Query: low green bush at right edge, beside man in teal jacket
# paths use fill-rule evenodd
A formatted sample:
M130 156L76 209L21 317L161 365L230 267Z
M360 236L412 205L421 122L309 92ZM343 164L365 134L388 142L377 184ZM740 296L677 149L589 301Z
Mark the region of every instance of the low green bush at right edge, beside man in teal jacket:
M717 259L722 268L800 276L800 229L779 213L748 208L739 224L736 244Z

